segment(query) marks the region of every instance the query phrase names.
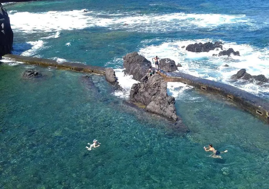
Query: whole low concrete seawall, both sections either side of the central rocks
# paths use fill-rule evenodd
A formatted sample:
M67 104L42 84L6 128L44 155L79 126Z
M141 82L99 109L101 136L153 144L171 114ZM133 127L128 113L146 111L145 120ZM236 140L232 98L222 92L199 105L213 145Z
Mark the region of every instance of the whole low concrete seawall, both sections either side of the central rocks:
M55 60L50 59L12 55L12 54L6 54L2 58L5 60L23 62L31 65L52 66L60 69L73 70L77 72L105 75L105 68L100 66L89 66L72 62L58 63ZM247 110L253 115L256 115L260 119L265 120L269 124L269 103L266 99L262 99L249 92L240 90L231 85L195 77L185 73L172 72L167 73L165 75L164 74L161 75L167 82L186 83L205 92L220 94L226 97L227 99L235 102L241 108Z

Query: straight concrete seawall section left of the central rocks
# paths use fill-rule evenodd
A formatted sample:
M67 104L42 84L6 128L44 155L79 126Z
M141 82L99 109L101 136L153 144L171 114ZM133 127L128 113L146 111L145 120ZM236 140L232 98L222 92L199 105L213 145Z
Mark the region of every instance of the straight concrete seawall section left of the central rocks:
M58 63L55 60L45 59L45 58L37 58L37 57L29 57L29 56L20 56L20 55L12 55L6 54L2 56L5 60L23 62L31 65L39 65L39 66L52 66L60 69L73 70L77 72L87 72L87 73L95 73L95 74L105 74L105 68L100 66L89 66L79 63L73 62L63 62Z

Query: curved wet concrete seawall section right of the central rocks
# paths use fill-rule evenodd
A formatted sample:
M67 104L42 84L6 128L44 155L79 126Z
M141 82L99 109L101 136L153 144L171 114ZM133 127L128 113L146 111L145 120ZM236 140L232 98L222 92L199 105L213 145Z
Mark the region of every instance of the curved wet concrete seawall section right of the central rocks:
M167 73L166 75L162 74L162 76L167 82L181 82L205 92L220 94L269 123L269 102L266 99L262 99L228 84L195 77L185 73L173 72Z

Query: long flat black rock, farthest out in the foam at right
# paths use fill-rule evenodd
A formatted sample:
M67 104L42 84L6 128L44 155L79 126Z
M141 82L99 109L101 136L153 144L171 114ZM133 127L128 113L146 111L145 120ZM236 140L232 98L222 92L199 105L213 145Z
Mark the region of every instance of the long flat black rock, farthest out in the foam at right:
M211 42L207 42L205 44L195 43L188 45L186 47L186 50L191 52L209 52L211 50L214 50L215 48L220 48L222 50L222 44L222 42L218 41L216 41L214 44Z

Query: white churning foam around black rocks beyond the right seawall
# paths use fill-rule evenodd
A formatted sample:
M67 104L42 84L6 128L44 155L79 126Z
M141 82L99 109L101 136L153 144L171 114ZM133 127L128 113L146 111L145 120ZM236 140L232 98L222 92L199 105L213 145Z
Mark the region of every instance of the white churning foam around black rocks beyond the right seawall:
M194 43L205 43L210 39L186 40L164 42L160 45L150 45L141 48L139 54L151 60L155 55L160 58L171 58L176 64L180 63L182 67L178 67L179 71L191 74L196 77L202 77L208 80L220 81L241 88L242 90L252 92L254 94L264 94L269 92L269 88L260 87L255 83L249 82L231 82L229 79L240 69L245 68L247 73L251 75L263 74L269 78L269 49L258 49L246 44L226 43L223 41L223 49L233 48L240 52L240 56L212 56L218 54L218 51L194 53L186 51L182 46ZM229 67L223 65L228 64Z

